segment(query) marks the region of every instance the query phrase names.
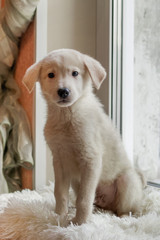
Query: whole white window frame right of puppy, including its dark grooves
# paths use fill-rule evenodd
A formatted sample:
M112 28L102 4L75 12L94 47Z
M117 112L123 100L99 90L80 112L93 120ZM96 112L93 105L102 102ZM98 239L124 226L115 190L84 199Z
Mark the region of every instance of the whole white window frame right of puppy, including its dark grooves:
M109 114L133 163L134 0L110 0Z

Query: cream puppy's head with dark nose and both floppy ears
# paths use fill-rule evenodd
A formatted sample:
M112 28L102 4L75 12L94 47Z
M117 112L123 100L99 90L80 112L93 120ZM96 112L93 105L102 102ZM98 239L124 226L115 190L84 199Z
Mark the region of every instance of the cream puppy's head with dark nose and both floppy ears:
M71 49L56 50L26 71L23 83L31 92L39 81L50 103L71 106L92 84L99 89L106 72L95 59Z

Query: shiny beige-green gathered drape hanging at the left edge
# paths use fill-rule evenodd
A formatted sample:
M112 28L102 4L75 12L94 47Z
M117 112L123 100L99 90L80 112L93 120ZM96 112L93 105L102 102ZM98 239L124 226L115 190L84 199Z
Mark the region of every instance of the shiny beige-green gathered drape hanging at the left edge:
M13 73L20 37L38 2L6 0L0 12L0 193L20 190L20 166L33 167L29 123Z

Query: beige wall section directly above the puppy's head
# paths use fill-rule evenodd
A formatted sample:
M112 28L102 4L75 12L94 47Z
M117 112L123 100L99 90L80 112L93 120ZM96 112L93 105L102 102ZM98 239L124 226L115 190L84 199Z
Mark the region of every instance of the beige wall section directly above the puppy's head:
M95 57L96 0L48 0L48 52L73 48Z

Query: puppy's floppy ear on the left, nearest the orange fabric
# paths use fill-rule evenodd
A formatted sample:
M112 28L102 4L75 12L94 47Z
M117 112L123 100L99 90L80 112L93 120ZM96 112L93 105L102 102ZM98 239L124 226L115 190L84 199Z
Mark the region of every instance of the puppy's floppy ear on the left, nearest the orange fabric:
M31 65L25 72L22 82L25 85L25 87L28 89L29 93L32 92L35 82L38 81L40 68L41 68L41 62L38 62Z

